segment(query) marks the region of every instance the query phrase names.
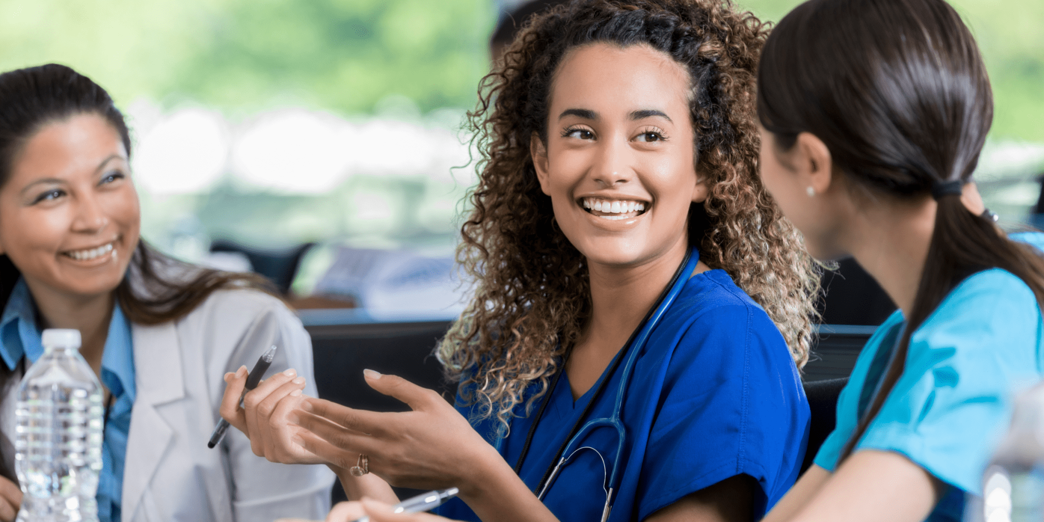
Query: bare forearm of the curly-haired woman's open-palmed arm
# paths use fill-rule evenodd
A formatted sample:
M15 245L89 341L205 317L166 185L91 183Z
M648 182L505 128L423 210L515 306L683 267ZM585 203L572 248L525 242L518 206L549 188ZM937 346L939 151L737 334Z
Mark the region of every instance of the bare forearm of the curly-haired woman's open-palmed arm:
M559 519L541 502L515 474L507 462L484 458L461 484L460 498L485 522L557 522Z

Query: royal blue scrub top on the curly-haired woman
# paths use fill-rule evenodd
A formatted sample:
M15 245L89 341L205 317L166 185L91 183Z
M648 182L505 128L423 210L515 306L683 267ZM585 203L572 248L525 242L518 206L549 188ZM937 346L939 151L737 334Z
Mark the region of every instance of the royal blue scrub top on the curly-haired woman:
M606 370L609 372L609 369ZM623 373L620 364L595 399L585 422L612 414ZM595 384L573 401L566 375L551 392L520 472L537 488ZM535 393L536 385L528 393ZM539 410L520 404L500 453L515 466ZM460 399L458 397L458 404ZM474 419L474 406L458 406ZM610 520L642 520L686 495L726 478L746 474L758 482L754 518L760 519L798 478L808 438L809 410L801 378L786 343L765 311L725 270L690 278L639 355L621 419L626 430L619 490ZM497 423L473 423L496 445ZM563 521L600 519L607 480L600 454L612 472L616 431L597 429L578 446L544 498ZM478 520L459 499L437 513Z

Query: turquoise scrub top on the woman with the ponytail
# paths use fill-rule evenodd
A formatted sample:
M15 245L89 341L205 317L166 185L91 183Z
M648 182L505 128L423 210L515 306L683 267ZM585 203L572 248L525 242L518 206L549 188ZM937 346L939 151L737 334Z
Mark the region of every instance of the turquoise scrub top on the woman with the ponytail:
M815 455L817 466L834 470L855 430L859 403L872 395L863 384L878 380L868 374L883 372L903 326L896 311L859 354L837 400L837 425ZM965 493L981 495L1013 396L1040 380L1042 357L1044 319L1029 287L999 268L974 274L914 332L903 375L856 450L901 453L946 482L927 520L958 521Z

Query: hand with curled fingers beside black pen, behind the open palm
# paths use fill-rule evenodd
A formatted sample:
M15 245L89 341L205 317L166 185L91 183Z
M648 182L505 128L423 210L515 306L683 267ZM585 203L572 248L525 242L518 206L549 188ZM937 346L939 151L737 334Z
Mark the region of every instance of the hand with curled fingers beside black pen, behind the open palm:
M251 440L254 454L272 462L327 464L293 443L294 435L302 428L287 420L287 413L307 398L301 393L305 388L305 378L298 377L293 369L276 374L248 392L243 397L243 407L239 407L246 376L246 366L224 375L228 386L221 399L220 413Z

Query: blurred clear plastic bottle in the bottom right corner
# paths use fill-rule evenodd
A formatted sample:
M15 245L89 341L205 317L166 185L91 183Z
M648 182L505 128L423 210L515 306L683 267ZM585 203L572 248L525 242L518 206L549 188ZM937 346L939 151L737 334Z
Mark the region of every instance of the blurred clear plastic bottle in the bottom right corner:
M1044 383L1016 401L1007 431L982 482L981 511L971 520L1044 520ZM975 502L978 504L978 502Z

